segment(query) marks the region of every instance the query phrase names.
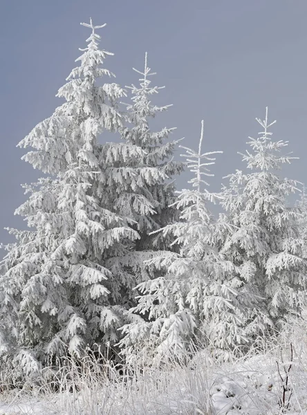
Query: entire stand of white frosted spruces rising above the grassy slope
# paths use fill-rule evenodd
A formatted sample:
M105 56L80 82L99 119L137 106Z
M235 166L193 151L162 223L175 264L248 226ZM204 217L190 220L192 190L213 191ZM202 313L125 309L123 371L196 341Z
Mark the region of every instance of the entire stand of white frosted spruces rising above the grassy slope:
M243 154L251 172L215 194L205 178L220 151L202 152L202 122L198 151L182 147L191 189L176 195L184 163L172 158L173 129L151 130L169 106L151 102L160 88L147 54L122 112L126 91L104 82L114 76L96 33L105 25L82 25L91 35L57 93L64 103L19 143L45 176L23 186L15 213L28 230L9 229L16 243L0 263L0 367L33 374L87 345L150 362L195 346L225 359L247 350L306 308L305 196L291 208L297 182L277 174L288 143L272 140L267 110ZM106 131L120 142L100 144Z

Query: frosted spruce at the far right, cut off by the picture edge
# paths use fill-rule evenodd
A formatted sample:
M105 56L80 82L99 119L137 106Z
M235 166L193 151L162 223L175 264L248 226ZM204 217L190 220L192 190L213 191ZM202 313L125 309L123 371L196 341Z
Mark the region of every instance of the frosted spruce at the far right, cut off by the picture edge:
M250 295L258 299L256 313L247 315L246 331L251 338L266 329L279 329L290 313L300 313L306 304L306 240L299 234L299 210L291 208L287 196L297 190L297 182L281 178L277 170L290 163L281 155L288 142L273 141L268 122L257 118L263 127L258 138L250 138L252 150L242 154L252 172L227 176L221 204L235 232L225 235L221 252L239 268L237 275L241 300Z

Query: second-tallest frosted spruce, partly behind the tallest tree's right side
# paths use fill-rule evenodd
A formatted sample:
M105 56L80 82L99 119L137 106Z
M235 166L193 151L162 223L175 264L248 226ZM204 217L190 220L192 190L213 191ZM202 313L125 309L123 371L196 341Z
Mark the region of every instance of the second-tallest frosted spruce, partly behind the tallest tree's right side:
M159 249L170 249L168 238L150 235L150 232L176 220L178 211L169 207L174 203L175 191L171 179L183 170L183 163L169 160L177 143L167 141L173 129L165 127L158 132L150 129L151 118L169 106L151 103L152 96L161 87L151 86L149 77L154 73L147 66L147 53L144 71L134 71L141 75L140 86L127 86L131 89L132 102L127 104L128 127L120 129L123 141L104 145L101 153L103 163L109 166L106 176L111 205L118 214L133 219L133 228L140 234L140 239L131 243L126 254L122 252L107 261L114 281L111 295L122 298L127 308L136 305L133 288L152 277L145 259Z

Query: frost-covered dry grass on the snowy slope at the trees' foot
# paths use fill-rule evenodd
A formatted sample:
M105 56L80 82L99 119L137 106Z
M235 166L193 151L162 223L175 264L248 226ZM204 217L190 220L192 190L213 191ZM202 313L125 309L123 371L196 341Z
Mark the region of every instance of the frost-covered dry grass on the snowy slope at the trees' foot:
M45 371L35 384L3 391L0 414L307 414L304 329L265 347L220 363L204 349L186 364L126 367L124 374L106 360L66 360L53 376Z

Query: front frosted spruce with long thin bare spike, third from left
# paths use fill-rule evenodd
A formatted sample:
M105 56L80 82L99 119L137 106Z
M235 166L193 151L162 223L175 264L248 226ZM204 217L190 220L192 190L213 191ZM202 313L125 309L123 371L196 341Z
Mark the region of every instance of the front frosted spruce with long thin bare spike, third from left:
M180 221L166 225L161 233L175 238L179 252L160 252L147 262L162 273L138 285L139 303L132 311L135 321L123 327L121 344L128 358L143 347L157 358L185 356L191 341L210 344L214 349L233 349L248 342L244 331L245 308L252 299L240 304L237 270L218 252L224 232L232 228L221 215L216 222L207 207L216 195L202 187L204 176L214 164L214 151L202 154L203 122L198 152L183 147L189 169L195 173L192 190L178 192L174 206ZM142 317L143 316L143 317ZM151 358L151 354L149 353Z

